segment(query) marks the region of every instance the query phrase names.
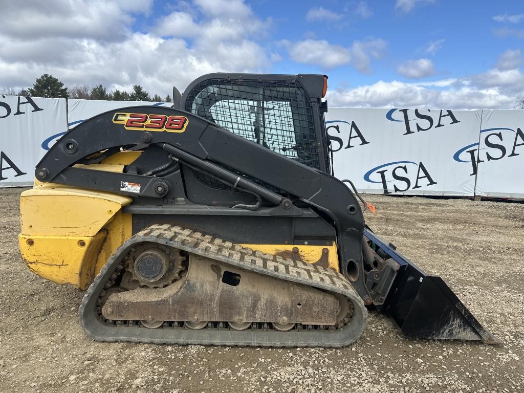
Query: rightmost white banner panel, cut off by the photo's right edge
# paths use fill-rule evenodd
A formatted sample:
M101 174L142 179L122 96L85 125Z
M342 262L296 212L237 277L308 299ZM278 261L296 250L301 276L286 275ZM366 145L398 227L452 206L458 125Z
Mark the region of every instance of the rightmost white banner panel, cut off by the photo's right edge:
M477 146L475 194L524 198L524 111L483 110Z

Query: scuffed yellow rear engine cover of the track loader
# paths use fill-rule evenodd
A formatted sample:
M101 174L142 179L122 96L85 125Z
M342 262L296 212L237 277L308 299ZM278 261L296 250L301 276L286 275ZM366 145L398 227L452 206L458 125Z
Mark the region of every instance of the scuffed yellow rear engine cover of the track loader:
M86 289L108 257L132 235L128 196L35 182L20 196L20 252L27 267Z

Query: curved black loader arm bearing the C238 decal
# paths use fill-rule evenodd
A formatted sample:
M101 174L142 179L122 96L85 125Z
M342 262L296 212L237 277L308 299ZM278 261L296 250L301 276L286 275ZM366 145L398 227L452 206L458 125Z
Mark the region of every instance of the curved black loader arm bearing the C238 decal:
M145 145L146 150L151 146L161 148L171 159L209 173L234 188L254 193L289 214L300 212L284 195L324 212L336 229L341 271L364 301L369 299L362 274L364 219L346 185L191 113L167 107L135 106L95 116L57 141L38 163L35 176L42 182L157 199L161 204L162 197L174 187L167 178L78 165L91 162L104 151L140 145ZM126 186L129 183L134 184L133 189Z

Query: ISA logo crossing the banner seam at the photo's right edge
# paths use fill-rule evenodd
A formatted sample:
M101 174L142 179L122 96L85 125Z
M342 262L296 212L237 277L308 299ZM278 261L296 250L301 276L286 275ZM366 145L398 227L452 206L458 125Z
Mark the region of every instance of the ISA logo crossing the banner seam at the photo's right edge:
M521 128L516 130L508 127L481 129L479 142L464 146L457 150L453 159L457 162L471 164L470 176L477 174L479 162L497 161L503 158L516 157L524 152L524 133ZM520 150L519 150L520 149Z

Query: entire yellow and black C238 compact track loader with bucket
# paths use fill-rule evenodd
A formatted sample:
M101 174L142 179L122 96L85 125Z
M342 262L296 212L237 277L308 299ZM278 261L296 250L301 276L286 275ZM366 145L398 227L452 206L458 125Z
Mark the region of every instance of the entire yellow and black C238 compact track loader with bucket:
M217 73L172 108L83 122L21 195L27 266L88 289L80 322L101 341L336 347L373 307L408 337L498 342L365 225L332 176L326 89Z

